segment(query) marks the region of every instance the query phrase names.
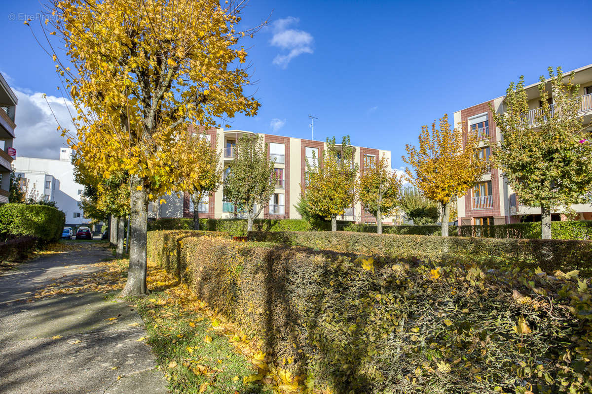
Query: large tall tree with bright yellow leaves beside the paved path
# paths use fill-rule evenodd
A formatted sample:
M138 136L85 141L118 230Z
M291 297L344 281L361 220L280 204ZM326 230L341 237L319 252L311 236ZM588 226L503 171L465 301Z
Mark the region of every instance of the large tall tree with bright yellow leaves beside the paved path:
M130 266L121 295L145 294L147 203L174 190L187 125L221 126L259 103L244 95L246 51L237 31L246 2L217 0L50 0L47 37L65 95L78 113L72 149L95 177L131 177ZM74 70L70 70L73 67Z

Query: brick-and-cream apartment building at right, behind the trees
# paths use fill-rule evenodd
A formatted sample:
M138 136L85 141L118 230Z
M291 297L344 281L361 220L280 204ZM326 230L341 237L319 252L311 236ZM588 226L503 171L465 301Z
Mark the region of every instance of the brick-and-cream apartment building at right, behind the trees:
M573 83L580 85L578 92L578 95L581 96L580 115L584 118L583 124L588 125L584 132L592 133L590 126L592 120L592 64L580 67L573 72ZM570 74L571 71L565 73L565 76ZM539 84L540 82L525 87L529 99L529 111L526 113L526 117L532 125L534 125L535 118L539 115L542 106ZM454 113L455 125L462 122L465 125L465 132L470 132L477 137L480 156L487 160L491 153L490 147L501 140L500 129L497 128L491 116L490 105L497 113L503 113L504 98L505 96L497 97ZM592 205L574 204L572 209L578 214L580 220L592 220ZM501 172L490 165L480 182L468 190L465 196L458 199L458 217L459 224L463 225L536 222L540 220L540 208L520 204L519 198L511 190ZM552 214L552 219L564 220L565 216L555 212Z

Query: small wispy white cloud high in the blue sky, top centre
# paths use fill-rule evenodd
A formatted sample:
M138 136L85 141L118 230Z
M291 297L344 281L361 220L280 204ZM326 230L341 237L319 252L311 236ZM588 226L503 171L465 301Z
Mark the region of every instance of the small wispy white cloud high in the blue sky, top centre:
M288 63L295 57L303 53L313 53L313 36L306 31L296 30L288 28L291 25L298 24L300 19L294 17L287 17L284 19L278 19L272 25L274 31L274 37L271 38L269 43L274 47L278 47L284 51L288 51L287 54L278 54L273 63L276 66L285 69L288 67Z

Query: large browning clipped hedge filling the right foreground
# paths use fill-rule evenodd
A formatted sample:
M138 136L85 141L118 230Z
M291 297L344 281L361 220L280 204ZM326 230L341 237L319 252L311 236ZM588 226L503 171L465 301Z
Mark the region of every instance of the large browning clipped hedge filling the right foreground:
M173 253L198 297L317 389L592 392L592 288L576 272L166 233L149 233L149 258Z

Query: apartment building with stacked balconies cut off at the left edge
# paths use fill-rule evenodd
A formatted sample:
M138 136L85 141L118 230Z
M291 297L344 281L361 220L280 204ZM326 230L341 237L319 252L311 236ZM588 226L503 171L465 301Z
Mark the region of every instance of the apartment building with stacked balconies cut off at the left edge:
M0 203L8 203L12 160L17 152L12 148L14 139L14 114L18 99L0 74Z

